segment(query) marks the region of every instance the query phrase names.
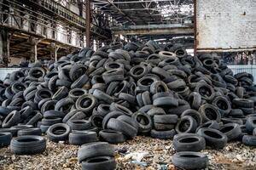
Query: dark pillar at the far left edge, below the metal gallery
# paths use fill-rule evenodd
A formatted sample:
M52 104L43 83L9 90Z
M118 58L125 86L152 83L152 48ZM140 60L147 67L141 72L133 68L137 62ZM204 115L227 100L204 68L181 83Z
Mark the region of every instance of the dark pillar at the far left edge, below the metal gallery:
M0 29L0 67L8 67L9 40L11 33L6 29Z

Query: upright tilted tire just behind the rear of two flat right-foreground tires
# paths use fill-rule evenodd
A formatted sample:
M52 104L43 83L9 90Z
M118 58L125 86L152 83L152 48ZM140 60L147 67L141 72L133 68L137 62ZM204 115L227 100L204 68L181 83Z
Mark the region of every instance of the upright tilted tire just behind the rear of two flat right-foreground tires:
M177 133L195 133L196 127L197 122L192 116L183 116L177 122L175 130Z

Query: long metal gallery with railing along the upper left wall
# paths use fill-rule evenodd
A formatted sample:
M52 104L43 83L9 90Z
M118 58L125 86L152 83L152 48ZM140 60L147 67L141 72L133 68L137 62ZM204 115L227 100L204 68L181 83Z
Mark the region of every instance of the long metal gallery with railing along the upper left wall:
M0 5L9 8L9 11L0 11L0 26L74 47L84 47L84 33L82 31L78 29L72 29L73 31L71 31L69 26L52 20L44 14L33 12L19 4L12 3L7 5L0 3Z

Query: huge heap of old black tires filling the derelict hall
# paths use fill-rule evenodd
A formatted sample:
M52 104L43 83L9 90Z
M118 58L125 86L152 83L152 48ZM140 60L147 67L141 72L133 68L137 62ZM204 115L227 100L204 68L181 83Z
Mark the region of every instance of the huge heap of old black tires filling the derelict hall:
M0 132L16 136L39 127L51 141L79 145L191 133L212 149L234 140L256 145L255 94L251 74L233 75L210 54L191 56L177 44L153 41L113 42L5 77Z

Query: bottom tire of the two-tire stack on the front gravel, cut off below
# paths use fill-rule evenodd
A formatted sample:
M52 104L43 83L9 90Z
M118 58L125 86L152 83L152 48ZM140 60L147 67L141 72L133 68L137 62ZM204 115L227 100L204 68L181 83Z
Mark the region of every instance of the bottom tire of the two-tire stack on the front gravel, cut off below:
M82 170L114 170L116 162L113 156L96 156L82 161Z

